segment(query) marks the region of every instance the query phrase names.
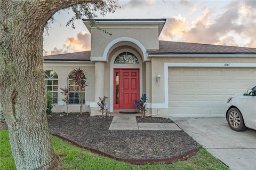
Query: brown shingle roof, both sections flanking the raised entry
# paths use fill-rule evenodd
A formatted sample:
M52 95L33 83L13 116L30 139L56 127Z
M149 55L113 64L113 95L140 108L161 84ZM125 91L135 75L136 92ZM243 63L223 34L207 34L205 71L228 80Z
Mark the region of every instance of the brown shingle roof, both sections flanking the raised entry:
M256 48L211 45L185 42L159 41L159 50L147 51L148 54L254 54ZM91 51L44 56L44 61L91 61Z

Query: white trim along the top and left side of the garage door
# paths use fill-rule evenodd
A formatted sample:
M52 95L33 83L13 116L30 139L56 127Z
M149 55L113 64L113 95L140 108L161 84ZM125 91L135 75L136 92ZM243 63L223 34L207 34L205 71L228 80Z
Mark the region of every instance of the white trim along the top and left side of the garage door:
M169 108L169 87L168 87L168 69L169 67L241 67L256 68L256 63L164 63L164 103L151 103L152 109L168 109Z

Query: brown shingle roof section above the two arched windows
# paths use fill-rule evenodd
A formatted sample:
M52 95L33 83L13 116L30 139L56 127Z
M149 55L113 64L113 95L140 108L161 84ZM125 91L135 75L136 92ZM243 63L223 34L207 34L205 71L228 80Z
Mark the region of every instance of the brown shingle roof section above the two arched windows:
M44 61L91 61L91 51L44 56Z

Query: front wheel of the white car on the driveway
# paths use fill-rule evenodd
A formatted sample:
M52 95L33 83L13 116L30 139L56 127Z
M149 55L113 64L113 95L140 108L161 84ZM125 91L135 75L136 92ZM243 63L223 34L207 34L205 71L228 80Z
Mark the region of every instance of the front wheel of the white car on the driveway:
M234 131L245 131L247 129L241 112L236 108L228 110L227 120L229 127Z

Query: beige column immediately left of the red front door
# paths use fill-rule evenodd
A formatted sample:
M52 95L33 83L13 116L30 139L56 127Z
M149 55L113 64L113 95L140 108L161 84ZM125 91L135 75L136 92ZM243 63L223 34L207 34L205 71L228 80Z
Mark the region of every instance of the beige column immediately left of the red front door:
M94 90L94 101L98 102L99 97L104 96L104 70L105 63L102 61L95 62L95 90Z

